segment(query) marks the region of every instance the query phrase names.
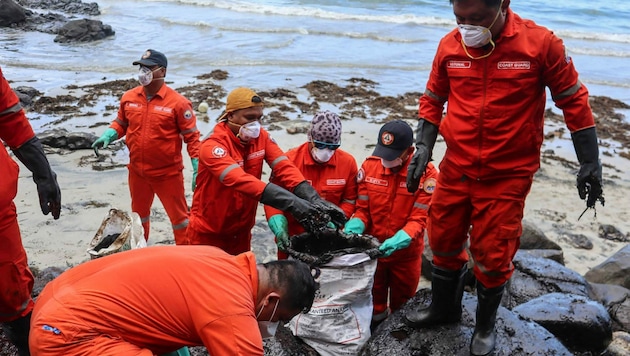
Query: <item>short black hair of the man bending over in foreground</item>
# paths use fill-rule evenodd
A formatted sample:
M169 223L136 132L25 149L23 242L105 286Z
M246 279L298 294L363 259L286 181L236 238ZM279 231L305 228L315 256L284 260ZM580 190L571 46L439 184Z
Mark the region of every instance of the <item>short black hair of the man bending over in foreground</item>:
M319 270L312 271L306 263L298 260L279 260L264 263L269 273L269 284L282 292L282 305L289 309L307 313L313 305L319 283L315 278Z

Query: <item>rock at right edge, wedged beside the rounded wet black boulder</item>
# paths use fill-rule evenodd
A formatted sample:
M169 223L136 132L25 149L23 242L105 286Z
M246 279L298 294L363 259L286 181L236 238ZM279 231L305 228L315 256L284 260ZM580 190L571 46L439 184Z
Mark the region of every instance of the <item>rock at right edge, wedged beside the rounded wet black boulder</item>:
M630 330L630 290L613 284L591 283L591 298L608 310L613 331Z

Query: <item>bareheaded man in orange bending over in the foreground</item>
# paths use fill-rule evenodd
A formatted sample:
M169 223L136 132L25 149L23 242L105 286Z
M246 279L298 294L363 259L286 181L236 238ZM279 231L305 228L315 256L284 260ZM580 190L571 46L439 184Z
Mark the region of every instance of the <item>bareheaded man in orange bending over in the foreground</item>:
M318 284L297 260L256 264L213 246L152 246L70 268L37 298L33 356L146 355L205 346L263 355L279 321L307 312Z

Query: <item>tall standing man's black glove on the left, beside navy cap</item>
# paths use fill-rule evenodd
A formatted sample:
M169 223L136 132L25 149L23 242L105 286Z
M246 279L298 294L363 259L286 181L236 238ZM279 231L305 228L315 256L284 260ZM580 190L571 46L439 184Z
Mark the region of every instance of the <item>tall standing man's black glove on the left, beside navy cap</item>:
M409 162L407 171L407 191L415 193L420 185L420 178L424 174L427 164L433 154L433 146L437 140L438 127L432 123L420 119L416 127L416 152Z

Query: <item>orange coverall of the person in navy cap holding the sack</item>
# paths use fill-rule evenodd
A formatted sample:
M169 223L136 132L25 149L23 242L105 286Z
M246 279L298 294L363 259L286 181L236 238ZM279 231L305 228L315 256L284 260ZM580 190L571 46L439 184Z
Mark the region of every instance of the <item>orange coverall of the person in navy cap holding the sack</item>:
M413 297L420 280L427 211L438 173L429 163L420 180L420 189L409 193L406 183L409 162L407 159L404 167L394 173L383 167L379 157L370 156L357 175L359 196L353 218L363 221L364 233L383 242L402 229L412 239L409 247L378 259L372 288L375 319L387 316L388 299L393 312Z

